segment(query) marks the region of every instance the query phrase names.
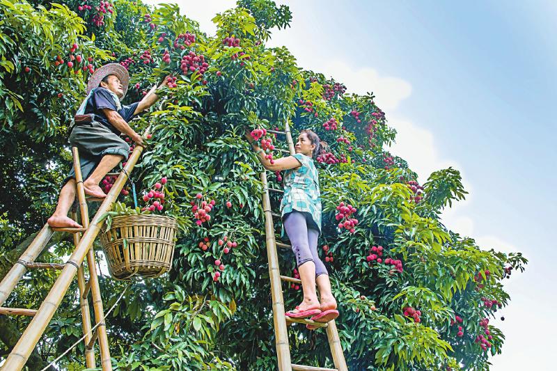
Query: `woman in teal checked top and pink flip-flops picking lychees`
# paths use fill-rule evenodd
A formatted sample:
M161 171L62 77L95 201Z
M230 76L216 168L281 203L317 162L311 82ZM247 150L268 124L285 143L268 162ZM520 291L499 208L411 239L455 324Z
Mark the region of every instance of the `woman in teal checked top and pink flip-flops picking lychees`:
M304 301L288 317L311 317L316 322L329 322L338 317L336 300L331 292L329 274L317 254L317 238L321 232L321 197L317 169L313 157L324 152L324 142L311 130L302 130L295 145L295 155L275 159L274 164L265 158L265 152L251 134L246 132L263 167L270 171L286 171L281 215L284 230L290 239L292 251L304 290ZM319 287L320 301L315 292ZM313 326L308 326L312 328Z

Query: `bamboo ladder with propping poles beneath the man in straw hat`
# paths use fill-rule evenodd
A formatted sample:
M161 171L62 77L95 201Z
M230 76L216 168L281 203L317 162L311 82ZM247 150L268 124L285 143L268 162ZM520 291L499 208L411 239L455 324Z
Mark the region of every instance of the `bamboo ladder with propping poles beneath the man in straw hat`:
M148 130L144 136L148 134ZM22 370L29 358L31 352L40 340L42 333L45 332L54 312L60 305L65 293L70 287L70 283L74 276L77 274L77 285L79 287L79 304L81 306L81 315L83 317L83 331L85 342L85 358L87 368L95 368L95 351L93 349L95 341L99 341L100 358L102 370L112 370L110 359L109 343L107 338L107 328L104 324L104 311L102 308L102 299L100 296L99 279L97 276L97 269L95 267L95 254L93 253L93 242L100 232L102 222L101 216L110 211L113 203L123 189L128 175L132 172L136 162L143 152L141 145L136 145L132 155L127 159L127 164L124 171L118 174L116 182L114 182L107 197L104 199L95 199L85 197L83 187L83 177L81 175L81 167L79 166L79 153L77 148L72 148L75 178L77 182L77 197L79 200L79 210L81 213L81 226L83 228L51 228L48 224L38 232L38 235L33 239L21 258L10 269L8 274L3 278L0 283L0 315L27 315L33 317L31 323L25 329L21 338L10 352L6 362L0 370L14 371ZM89 201L102 201L99 209L93 220L89 223L89 214L87 207L87 200ZM77 212L72 211L72 219L77 219ZM54 232L70 232L74 235L74 251L70 259L65 264L49 264L35 262L36 258L42 253L46 244ZM89 270L89 281L85 280L85 270L83 262L87 258L87 265ZM25 274L26 269L59 269L61 270L60 276L50 289L47 297L40 308L23 309L23 308L5 308L1 305L8 299L8 296L13 292L18 281ZM95 312L95 322L98 324L97 329L91 333L91 316L89 313L88 293L91 292L93 297L93 310Z

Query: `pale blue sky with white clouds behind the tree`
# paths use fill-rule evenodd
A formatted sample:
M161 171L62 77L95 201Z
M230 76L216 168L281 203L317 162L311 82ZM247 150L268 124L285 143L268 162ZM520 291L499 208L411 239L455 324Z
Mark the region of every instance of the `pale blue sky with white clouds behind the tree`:
M154 1L154 0L153 0ZM157 1L155 1L157 2ZM166 1L214 32L235 1ZM507 340L492 370L553 370L553 219L557 211L557 3L554 1L277 1L292 27L275 31L299 65L373 91L398 129L392 152L421 182L462 171L471 192L446 224L483 248L522 251L505 280ZM499 317L499 316L498 316Z

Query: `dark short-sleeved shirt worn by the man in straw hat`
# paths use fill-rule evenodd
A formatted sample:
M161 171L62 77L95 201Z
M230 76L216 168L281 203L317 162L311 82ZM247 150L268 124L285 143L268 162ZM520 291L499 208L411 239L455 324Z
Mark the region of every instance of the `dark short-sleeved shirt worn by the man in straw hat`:
M118 110L116 109L116 102L114 102L110 90L100 86L93 89L93 94L91 94L91 97L87 100L85 113L95 113L95 121L108 127L114 134L120 135L122 133L120 133L116 127L113 127L107 116L104 115L102 109L107 108L120 113L120 116L122 116L125 122L129 123L136 116L134 112L138 104L139 102L132 103L129 106L122 105L122 108Z

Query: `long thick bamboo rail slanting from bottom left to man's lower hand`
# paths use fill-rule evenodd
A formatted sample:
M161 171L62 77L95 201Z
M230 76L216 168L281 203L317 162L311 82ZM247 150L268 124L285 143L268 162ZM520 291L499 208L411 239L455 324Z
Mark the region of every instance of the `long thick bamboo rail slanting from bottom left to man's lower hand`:
M146 130L145 134L147 133L148 130ZM134 152L132 152L130 159L127 160L127 164L125 166L125 171L128 174L134 168L139 156L141 156L141 152L143 152L143 147L141 147L141 145L137 145ZM8 358L6 358L6 362L3 364L1 370L21 370L24 367L27 358L29 358L31 352L33 352L33 348L36 346L40 336L42 336L42 333L48 326L54 312L56 312L56 308L60 305L65 292L68 291L68 287L70 287L72 279L77 274L77 268L84 261L87 252L99 234L100 227L102 225L102 223L100 223L101 216L105 212L109 212L111 210L114 201L116 201L118 194L120 194L120 191L124 187L127 180L126 172L120 173L118 179L114 182L109 194L100 205L93 221L91 221L91 226L89 226L89 228L87 228L84 232L83 237L81 237L81 241L70 256L68 264L66 264L64 269L62 269L60 276L58 276L58 279L52 286L52 289L45 298L45 301L42 302L37 314L33 317L29 326L25 329L22 337L19 338L19 341L13 348Z

